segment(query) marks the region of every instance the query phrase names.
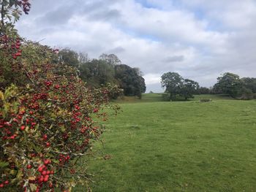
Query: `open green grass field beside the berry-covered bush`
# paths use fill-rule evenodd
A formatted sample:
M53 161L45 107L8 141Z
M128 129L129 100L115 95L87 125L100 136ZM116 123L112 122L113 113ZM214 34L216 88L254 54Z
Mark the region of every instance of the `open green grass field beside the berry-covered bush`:
M111 158L90 164L93 191L256 191L256 101L145 94L120 105L102 136Z

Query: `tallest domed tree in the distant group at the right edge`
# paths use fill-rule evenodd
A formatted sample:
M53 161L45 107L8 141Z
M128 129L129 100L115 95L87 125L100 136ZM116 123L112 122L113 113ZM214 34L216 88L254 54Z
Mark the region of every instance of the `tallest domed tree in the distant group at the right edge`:
M218 77L217 80L218 82L214 85L214 91L216 93L229 94L233 98L239 95L243 83L237 74L227 72L221 77Z

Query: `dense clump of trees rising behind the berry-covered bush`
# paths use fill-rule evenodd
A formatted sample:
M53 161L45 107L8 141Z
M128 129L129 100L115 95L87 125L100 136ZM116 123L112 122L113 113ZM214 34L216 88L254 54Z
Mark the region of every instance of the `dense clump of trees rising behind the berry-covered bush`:
M114 54L105 54L89 59L86 53L77 53L68 48L59 51L59 60L78 69L80 78L87 86L99 88L108 83L118 85L125 96L138 96L146 91L145 80L138 68L122 64Z

